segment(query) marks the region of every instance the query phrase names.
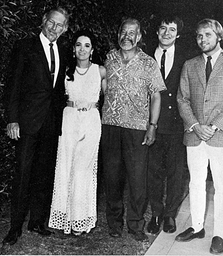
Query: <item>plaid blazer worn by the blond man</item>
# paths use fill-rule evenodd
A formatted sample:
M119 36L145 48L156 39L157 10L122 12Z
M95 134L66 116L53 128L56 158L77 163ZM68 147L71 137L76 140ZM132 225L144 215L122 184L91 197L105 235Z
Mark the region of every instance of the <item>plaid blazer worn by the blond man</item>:
M201 140L189 129L195 123L213 124L219 131L206 143L223 147L223 54L217 58L206 83L205 59L202 55L187 60L181 73L177 104L183 119L188 147L198 146Z

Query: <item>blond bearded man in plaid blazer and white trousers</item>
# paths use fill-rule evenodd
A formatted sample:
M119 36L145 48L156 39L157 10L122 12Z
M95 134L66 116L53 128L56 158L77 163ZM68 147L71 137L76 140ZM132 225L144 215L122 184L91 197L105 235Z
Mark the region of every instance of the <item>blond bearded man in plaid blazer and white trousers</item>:
M176 236L177 241L204 238L207 166L210 163L215 186L214 237L210 252L223 252L223 38L219 22L198 23L197 44L202 55L185 62L177 95L183 119L190 171L192 226Z

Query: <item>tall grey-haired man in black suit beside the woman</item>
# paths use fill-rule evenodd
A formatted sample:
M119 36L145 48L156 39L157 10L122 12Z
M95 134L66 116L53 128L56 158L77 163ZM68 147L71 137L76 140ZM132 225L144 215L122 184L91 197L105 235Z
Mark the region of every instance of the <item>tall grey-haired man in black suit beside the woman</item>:
M16 140L17 166L12 182L11 229L3 240L6 245L16 243L21 236L28 201L28 231L52 234L45 228L45 221L51 204L70 57L68 44L58 39L68 22L64 9L51 10L43 16L39 36L20 40L13 47L6 110L7 134Z

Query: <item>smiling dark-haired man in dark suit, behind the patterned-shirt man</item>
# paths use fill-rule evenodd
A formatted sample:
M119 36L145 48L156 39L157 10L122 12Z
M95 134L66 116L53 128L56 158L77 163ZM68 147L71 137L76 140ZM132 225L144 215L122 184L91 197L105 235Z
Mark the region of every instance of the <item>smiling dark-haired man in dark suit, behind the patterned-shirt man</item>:
M177 108L177 89L185 56L183 49L175 45L180 37L183 22L178 17L162 18L157 31L159 45L151 56L156 59L163 76L166 91L161 94L156 142L149 147L148 186L152 219L148 233L158 233L162 221L163 231L176 231L175 216L180 205L181 178L186 148L183 145L183 121ZM150 55L150 54L149 54ZM166 183L166 205L164 186Z

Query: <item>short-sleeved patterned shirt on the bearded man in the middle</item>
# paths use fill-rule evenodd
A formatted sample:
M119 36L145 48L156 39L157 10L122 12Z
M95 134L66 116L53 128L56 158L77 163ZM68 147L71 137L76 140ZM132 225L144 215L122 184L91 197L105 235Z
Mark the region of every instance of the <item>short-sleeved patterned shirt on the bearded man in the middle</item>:
M138 54L122 67L120 50L115 60L106 60L108 86L102 123L146 130L149 124L149 94L166 90L157 62L138 48Z

